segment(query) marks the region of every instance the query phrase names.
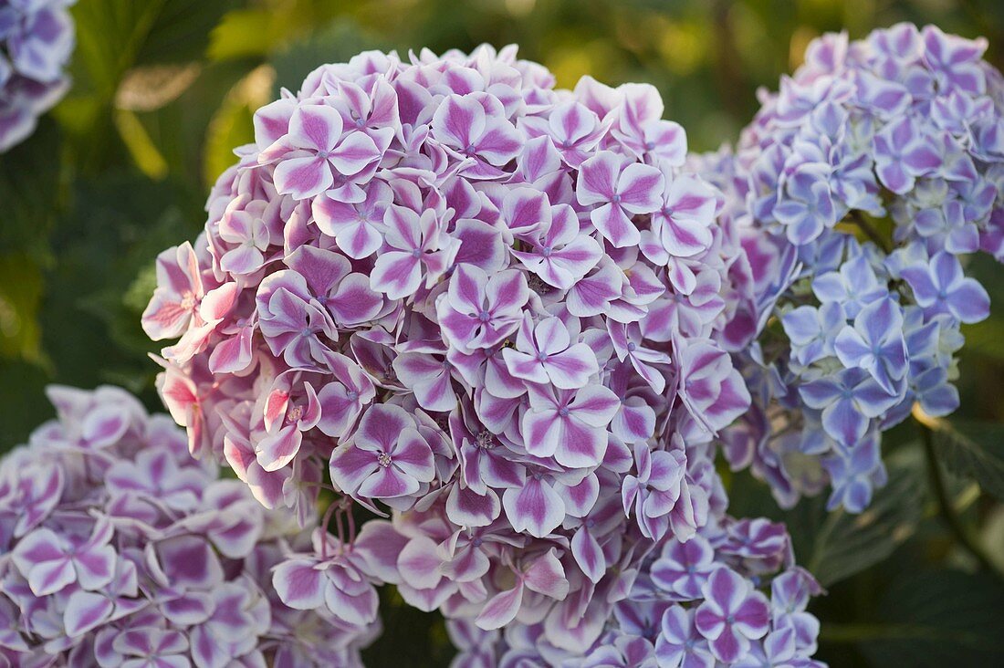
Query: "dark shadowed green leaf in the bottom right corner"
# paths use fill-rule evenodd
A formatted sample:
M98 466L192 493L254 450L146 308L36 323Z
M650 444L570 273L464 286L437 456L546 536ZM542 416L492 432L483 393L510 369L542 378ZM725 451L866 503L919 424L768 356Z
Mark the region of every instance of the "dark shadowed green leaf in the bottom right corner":
M1001 610L1004 587L990 576L904 569L858 646L876 667L1001 666Z

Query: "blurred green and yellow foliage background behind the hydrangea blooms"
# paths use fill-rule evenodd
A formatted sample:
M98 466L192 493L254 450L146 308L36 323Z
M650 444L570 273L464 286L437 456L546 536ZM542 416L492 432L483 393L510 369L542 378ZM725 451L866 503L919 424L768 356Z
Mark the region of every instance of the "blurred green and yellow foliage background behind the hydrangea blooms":
M253 110L321 62L518 43L561 86L586 73L653 83L698 151L734 142L756 89L825 31L936 23L986 36L1004 64L1001 0L79 0L73 14L72 90L0 157L0 451L51 416L48 383L112 383L158 405L139 324L154 258L198 234ZM960 415L982 425L976 465L1004 481L1004 282L984 259L974 272L996 312L964 330ZM831 665L1004 665L1000 581L945 530L912 429L888 439L892 482L863 515L826 514L821 500L782 513L746 475L729 478L734 512L790 522L830 593L814 612ZM964 529L1004 567L1000 505L965 479L948 486ZM447 665L442 625L388 598L367 665Z

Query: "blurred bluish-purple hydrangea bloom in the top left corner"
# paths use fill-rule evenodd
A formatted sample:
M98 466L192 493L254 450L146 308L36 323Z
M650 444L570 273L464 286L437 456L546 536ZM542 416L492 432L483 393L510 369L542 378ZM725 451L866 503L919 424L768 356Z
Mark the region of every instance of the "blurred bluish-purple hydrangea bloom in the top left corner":
M0 153L65 94L75 0L0 0Z

